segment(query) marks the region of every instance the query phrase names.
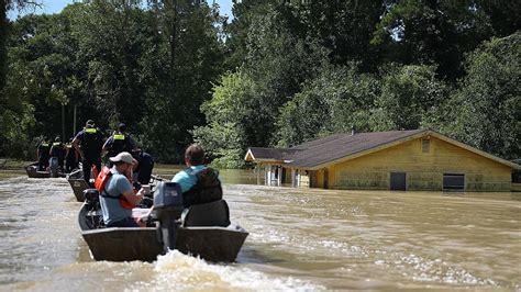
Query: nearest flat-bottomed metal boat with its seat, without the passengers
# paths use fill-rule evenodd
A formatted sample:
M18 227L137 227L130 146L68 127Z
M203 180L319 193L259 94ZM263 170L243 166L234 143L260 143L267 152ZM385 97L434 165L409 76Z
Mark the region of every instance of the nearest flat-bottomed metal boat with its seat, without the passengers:
M171 192L167 195L171 195ZM92 257L110 261L154 261L168 248L175 248L209 261L235 260L248 233L230 223L229 207L224 200L192 205L187 210L181 207L178 209L179 212L173 212L168 209L170 206L162 211L163 205L157 202L155 198L156 222L148 225L152 227L103 228L100 227L102 217L99 201L86 200L78 221ZM182 216L179 218L181 211Z

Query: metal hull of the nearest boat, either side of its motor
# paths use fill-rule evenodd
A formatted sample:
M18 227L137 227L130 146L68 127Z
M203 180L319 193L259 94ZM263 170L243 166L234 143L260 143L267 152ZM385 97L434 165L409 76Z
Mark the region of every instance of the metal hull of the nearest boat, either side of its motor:
M154 261L164 254L157 227L98 228L98 211L88 211L84 204L79 213L81 235L96 260ZM208 261L234 261L248 233L236 225L228 227L179 227L176 249L199 256Z

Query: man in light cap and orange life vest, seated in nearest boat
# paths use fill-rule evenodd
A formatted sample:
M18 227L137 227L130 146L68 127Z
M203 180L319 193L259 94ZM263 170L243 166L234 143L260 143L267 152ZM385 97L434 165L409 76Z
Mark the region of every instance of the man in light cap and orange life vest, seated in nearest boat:
M132 206L143 200L145 190L142 188L135 193L129 180L132 177L134 158L130 153L122 151L109 159L113 162L110 169L111 175L100 190L100 205L104 225L107 227L140 227L132 217ZM123 204L122 200L128 204Z

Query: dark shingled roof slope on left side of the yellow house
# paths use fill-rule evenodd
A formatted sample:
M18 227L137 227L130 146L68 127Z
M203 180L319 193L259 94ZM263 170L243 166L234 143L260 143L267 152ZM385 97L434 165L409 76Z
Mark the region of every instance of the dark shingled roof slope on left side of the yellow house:
M400 141L421 132L426 132L426 130L358 133L355 135L351 135L351 133L336 134L290 148L290 150L293 149L298 151L287 157L287 160L292 161L286 165L311 168L395 141Z

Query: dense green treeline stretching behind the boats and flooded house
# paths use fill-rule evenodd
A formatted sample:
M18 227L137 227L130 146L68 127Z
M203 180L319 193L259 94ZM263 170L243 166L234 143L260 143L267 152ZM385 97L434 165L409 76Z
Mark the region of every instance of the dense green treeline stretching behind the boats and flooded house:
M68 138L76 109L76 131L125 122L166 162L196 141L241 167L248 146L352 127L430 127L517 159L520 12L506 0L242 0L226 22L200 0L90 0L27 15L2 38L0 155Z

